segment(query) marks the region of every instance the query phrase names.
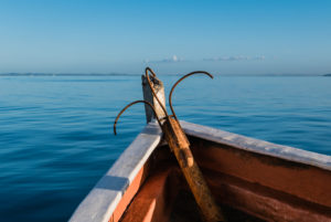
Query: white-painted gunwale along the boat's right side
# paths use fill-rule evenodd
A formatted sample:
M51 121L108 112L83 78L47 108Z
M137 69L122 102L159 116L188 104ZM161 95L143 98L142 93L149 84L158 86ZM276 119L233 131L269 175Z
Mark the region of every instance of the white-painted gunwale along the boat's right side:
M325 170L331 170L331 156L306 151L293 147L281 146L268 141L254 139L237 134L223 131L212 127L180 121L183 130L194 137L203 138L217 144L225 144L238 149L278 157L290 161L301 162Z

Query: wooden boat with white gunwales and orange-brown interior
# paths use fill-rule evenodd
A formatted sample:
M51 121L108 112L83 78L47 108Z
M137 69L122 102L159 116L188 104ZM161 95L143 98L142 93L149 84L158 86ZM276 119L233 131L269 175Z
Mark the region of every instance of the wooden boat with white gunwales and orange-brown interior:
M180 124L228 221L331 222L330 156ZM157 123L137 136L70 221L200 221Z

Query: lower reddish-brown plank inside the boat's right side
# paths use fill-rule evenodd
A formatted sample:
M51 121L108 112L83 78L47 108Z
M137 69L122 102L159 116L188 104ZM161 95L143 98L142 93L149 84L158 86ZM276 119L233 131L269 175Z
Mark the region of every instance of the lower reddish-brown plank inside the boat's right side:
M330 208L295 198L258 183L225 175L206 175L212 191L222 203L266 221L330 222Z

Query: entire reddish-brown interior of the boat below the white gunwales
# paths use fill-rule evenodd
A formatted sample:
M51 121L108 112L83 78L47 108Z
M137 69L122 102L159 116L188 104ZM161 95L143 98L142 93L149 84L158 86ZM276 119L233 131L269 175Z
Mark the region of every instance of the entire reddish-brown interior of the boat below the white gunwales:
M318 177L323 177L322 170L196 137L189 139L227 221L301 221L303 214L307 221L324 221L323 216L327 220L330 208L309 201L318 195L322 199L323 193L314 189L323 187L317 184ZM300 180L293 173L299 173ZM139 183L138 192L127 192L136 195L135 199L129 204L124 203L122 214L113 215L110 221L201 221L194 198L167 145L153 151L139 175L135 181ZM312 176L314 182L305 182ZM325 191L330 189L327 186ZM307 193L307 190L317 193Z

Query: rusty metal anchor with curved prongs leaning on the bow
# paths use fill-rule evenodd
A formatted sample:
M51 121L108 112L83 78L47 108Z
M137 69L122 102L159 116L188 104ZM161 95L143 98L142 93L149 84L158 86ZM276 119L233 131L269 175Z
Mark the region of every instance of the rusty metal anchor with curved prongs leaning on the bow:
M163 106L163 104L161 103L160 98L157 96L157 93L154 92L154 89L152 87L149 73L151 73L151 75L153 77L156 77L154 72L150 67L147 67L145 70L147 82L149 84L149 87L150 87L154 98L158 101L160 107L162 108L166 117L162 117L160 119L154 107L149 102L136 101L136 102L128 104L117 115L115 123L114 123L114 134L116 135L116 125L117 125L117 121L118 121L120 115L127 108L129 108L130 106L132 106L137 103L145 103L146 105L150 106L156 116L158 124L160 125L160 127L164 134L164 138L166 138L170 149L173 151L173 154L180 165L180 168L181 168L181 170L185 177L185 180L188 181L188 184L194 195L194 199L204 216L204 220L207 222L226 221L221 209L215 203L215 200L211 194L211 191L203 178L203 175L194 160L194 157L190 149L189 139L188 139L185 133L183 131L182 127L180 126L178 117L173 110L172 99L171 99L173 89L184 78L186 78L191 75L194 75L194 74L205 74L205 75L210 76L211 78L213 78L213 75L211 75L210 73L204 72L204 71L195 71L195 72L189 73L189 74L184 75L183 77L181 77L172 86L170 94L169 94L169 106L172 112L172 115L169 115L166 107Z

